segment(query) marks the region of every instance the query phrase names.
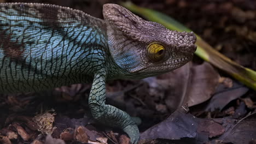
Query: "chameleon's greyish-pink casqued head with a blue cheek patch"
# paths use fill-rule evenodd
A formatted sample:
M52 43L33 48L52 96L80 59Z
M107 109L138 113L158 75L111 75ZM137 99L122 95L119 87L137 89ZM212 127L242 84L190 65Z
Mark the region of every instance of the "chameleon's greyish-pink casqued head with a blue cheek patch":
M126 75L148 77L177 69L193 58L193 32L170 31L117 4L103 5L109 51Z

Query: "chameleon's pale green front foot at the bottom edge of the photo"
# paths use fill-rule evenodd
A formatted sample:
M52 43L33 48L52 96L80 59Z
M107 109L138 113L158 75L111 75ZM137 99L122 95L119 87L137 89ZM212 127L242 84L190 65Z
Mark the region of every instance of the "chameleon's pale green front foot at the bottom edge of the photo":
M125 133L129 135L132 144L137 144L139 140L139 130L136 124L127 125L124 129Z

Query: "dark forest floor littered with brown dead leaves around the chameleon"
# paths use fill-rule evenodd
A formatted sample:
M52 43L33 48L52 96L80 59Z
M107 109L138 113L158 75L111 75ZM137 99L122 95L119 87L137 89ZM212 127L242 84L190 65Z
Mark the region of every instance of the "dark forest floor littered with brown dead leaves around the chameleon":
M50 3L103 19L102 5L121 1L0 2ZM132 2L173 17L217 51L256 70L256 1ZM123 131L94 121L88 106L90 88L91 83L85 83L0 95L0 143L128 143ZM256 143L256 92L197 56L157 77L109 81L107 96L107 104L142 120L139 143Z

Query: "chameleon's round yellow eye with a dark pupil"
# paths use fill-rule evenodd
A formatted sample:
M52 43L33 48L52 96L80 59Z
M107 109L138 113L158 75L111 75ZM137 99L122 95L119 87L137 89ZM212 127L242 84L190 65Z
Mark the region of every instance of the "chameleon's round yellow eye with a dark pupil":
M151 43L147 47L148 57L152 61L160 61L165 56L165 47L159 43Z

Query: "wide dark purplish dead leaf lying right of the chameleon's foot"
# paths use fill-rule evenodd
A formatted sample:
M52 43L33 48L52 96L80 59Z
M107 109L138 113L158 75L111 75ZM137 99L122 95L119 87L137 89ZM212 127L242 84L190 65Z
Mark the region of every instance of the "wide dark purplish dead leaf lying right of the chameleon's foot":
M218 140L234 126L235 119L197 118L177 110L159 124L141 133L140 141L155 139L173 140L172 143L205 143ZM209 139L211 138L211 139ZM148 142L148 141L147 141ZM170 141L168 141L170 142Z

